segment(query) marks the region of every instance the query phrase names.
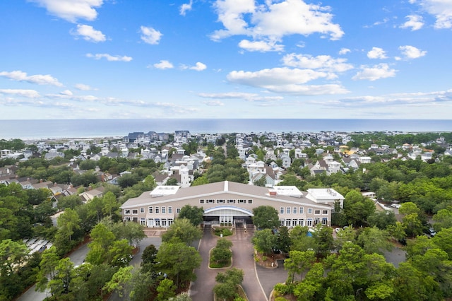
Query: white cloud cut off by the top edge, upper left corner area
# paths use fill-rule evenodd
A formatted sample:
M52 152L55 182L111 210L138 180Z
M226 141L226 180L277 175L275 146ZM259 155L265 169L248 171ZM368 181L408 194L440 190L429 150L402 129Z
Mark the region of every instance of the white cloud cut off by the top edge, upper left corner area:
M47 9L47 12L69 22L78 19L95 20L103 0L29 0Z

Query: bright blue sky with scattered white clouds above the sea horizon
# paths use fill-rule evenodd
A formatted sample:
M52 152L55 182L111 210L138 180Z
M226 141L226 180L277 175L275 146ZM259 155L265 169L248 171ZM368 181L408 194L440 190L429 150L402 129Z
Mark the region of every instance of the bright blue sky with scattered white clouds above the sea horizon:
M2 0L1 119L451 119L451 0Z

